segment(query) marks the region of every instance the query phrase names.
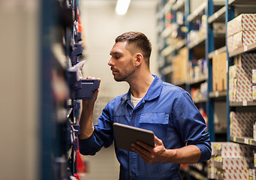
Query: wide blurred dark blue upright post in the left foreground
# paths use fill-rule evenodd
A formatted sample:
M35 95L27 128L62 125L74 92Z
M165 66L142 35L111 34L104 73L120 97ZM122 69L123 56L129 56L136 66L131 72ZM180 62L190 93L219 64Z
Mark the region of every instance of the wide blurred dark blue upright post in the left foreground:
M39 177L41 180L53 179L53 152L56 147L53 145L53 130L56 126L53 117L53 94L51 87L51 28L56 24L54 16L55 4L50 0L41 0L41 31L40 31L40 170Z

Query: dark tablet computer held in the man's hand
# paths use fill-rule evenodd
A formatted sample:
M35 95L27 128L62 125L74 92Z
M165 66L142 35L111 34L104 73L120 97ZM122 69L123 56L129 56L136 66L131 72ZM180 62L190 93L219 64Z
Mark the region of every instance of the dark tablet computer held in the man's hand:
M132 151L131 144L137 141L144 142L152 147L155 146L154 132L152 130L145 130L117 122L113 123L113 129L118 148Z

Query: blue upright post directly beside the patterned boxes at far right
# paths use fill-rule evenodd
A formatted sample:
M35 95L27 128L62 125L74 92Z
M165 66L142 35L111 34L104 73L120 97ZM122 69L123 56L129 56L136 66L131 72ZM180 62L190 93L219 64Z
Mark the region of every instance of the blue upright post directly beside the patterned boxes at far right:
M229 0L226 0L226 14L225 14L225 25L226 25L226 51L227 51L227 142L230 141L230 103L229 103L229 66L231 65L229 52L227 47L227 23L234 18L234 7L229 6Z

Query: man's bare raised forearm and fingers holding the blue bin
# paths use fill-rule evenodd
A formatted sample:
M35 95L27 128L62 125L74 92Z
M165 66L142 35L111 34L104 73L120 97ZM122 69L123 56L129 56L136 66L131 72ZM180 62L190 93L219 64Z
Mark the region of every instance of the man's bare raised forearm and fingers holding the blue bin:
M91 77L88 77L88 79L92 79ZM101 83L101 80L98 79L99 83ZM81 133L78 136L79 139L88 139L90 136L92 136L92 133L94 131L93 122L92 122L92 115L93 110L95 106L95 101L98 97L99 89L95 90L93 92L93 98L92 100L83 100L82 104L82 113L80 117L80 128Z

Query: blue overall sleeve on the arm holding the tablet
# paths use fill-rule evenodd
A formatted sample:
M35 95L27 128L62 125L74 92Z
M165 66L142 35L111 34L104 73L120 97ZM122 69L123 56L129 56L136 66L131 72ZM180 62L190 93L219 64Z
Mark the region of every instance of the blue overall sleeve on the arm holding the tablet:
M182 92L173 105L173 124L179 131L182 141L196 145L200 149L200 160L209 160L212 153L206 123L188 92Z

